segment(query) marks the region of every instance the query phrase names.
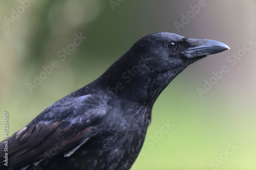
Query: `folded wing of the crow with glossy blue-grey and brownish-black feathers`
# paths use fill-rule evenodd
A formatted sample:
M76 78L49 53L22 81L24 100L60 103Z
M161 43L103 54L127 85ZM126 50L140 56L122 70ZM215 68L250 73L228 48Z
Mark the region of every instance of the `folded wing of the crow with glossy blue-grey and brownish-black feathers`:
M94 126L104 117L106 105L96 99L93 95L70 99L68 95L40 113L28 126L9 138L9 167L38 164L58 154L72 155L97 135ZM0 143L0 169L6 167L4 147L5 144Z

